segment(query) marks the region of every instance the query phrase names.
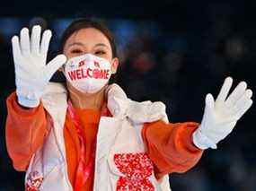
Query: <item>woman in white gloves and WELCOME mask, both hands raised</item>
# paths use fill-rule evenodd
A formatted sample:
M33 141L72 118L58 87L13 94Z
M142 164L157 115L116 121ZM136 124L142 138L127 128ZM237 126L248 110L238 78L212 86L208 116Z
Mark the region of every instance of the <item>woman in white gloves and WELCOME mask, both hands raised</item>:
M13 167L26 171L27 190L170 190L168 174L185 172L203 150L216 148L252 105L227 78L207 95L201 124L168 122L162 102L129 100L109 84L119 59L100 22L72 22L62 55L46 65L50 30L14 36L16 91L7 99L6 143ZM60 69L59 69L60 68ZM66 84L49 82L60 70Z

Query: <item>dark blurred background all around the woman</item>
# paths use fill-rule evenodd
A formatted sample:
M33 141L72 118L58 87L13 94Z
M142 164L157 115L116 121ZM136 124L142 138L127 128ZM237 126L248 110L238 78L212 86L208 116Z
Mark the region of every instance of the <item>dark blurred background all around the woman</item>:
M208 92L216 97L226 76L255 92L255 1L2 1L0 2L0 191L23 190L4 143L6 97L15 90L10 39L45 20L54 31L49 57L75 18L94 16L114 32L121 65L117 82L135 100L162 100L172 122L200 122ZM254 96L253 96L254 98ZM252 99L253 99L252 98ZM255 106L233 133L207 150L172 190L255 191Z

